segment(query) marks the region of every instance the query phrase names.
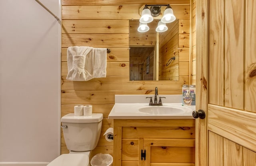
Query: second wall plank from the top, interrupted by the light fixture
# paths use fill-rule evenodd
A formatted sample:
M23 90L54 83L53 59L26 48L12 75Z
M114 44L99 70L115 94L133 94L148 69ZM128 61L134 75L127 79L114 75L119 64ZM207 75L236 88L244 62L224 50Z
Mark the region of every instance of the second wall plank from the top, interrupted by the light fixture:
M132 6L62 6L62 20L131 20L140 19L141 5ZM190 19L190 6L172 6L178 19Z

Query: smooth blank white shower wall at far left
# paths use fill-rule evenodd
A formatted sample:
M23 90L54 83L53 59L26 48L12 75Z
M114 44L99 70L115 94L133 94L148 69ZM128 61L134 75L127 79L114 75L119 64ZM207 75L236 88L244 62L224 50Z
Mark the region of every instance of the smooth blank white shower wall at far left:
M40 1L61 16L59 0ZM0 0L0 165L60 154L60 34L35 0Z

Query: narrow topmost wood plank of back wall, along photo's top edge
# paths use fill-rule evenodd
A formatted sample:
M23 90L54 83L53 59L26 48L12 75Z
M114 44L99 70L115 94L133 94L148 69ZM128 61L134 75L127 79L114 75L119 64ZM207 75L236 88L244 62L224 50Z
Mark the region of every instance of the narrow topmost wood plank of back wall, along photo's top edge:
M144 4L189 5L189 0L62 0L62 5L144 5Z

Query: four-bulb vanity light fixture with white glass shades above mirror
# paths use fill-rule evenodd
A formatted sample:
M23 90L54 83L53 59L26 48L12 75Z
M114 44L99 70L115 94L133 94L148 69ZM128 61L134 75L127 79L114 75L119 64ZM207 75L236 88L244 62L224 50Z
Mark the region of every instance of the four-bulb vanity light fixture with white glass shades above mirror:
M150 6L150 9L148 8ZM142 10L142 16L140 18L140 26L138 27L139 32L146 32L149 30L147 23L152 22L154 19L153 17L157 17L161 13L161 6L167 6L164 10L164 16L158 22L158 26L156 27L157 32L164 32L167 31L168 27L165 23L171 23L176 20L176 17L173 14L172 7L170 4L167 5L145 5ZM144 25L146 24L146 25ZM145 30L147 29L147 30Z

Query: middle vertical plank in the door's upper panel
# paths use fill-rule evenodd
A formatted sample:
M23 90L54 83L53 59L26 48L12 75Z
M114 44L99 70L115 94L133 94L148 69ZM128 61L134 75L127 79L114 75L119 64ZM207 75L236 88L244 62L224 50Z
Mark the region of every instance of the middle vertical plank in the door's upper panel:
M225 2L225 106L243 109L244 0Z

